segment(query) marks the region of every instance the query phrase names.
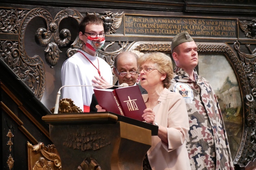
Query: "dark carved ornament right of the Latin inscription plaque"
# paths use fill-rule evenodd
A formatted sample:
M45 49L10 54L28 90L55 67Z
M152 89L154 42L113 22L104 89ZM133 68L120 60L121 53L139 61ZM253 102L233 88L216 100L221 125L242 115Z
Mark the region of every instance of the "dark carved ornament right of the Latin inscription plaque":
M252 21L239 21L239 26L241 30L244 31L244 34L248 38L256 38L256 19Z

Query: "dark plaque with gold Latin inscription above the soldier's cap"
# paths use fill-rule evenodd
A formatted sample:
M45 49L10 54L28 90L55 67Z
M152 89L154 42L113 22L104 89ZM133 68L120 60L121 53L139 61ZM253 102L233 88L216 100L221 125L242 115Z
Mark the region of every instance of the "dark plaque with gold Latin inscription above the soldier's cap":
M125 15L125 35L175 36L187 31L194 37L237 37L237 20L163 18Z

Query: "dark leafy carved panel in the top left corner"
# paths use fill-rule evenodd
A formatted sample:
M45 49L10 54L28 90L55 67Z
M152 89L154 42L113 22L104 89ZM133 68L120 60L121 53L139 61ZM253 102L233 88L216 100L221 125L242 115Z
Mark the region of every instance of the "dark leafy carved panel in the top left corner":
M17 34L19 32L19 25L26 13L27 10L0 10L0 33Z

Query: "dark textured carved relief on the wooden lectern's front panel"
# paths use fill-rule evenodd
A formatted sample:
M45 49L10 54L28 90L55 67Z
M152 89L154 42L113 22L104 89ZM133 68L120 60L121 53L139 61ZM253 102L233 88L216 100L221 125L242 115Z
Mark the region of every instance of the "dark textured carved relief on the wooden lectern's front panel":
M82 132L69 134L63 141L63 146L81 151L95 151L107 145L110 145L110 140L106 135L96 130L89 131L88 128L85 128Z

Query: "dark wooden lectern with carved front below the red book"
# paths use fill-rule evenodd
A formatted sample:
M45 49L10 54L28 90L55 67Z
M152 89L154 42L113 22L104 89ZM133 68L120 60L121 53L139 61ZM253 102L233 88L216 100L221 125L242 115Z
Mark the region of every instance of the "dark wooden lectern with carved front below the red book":
M158 126L110 112L52 114L50 138L59 152L62 170L142 170Z

